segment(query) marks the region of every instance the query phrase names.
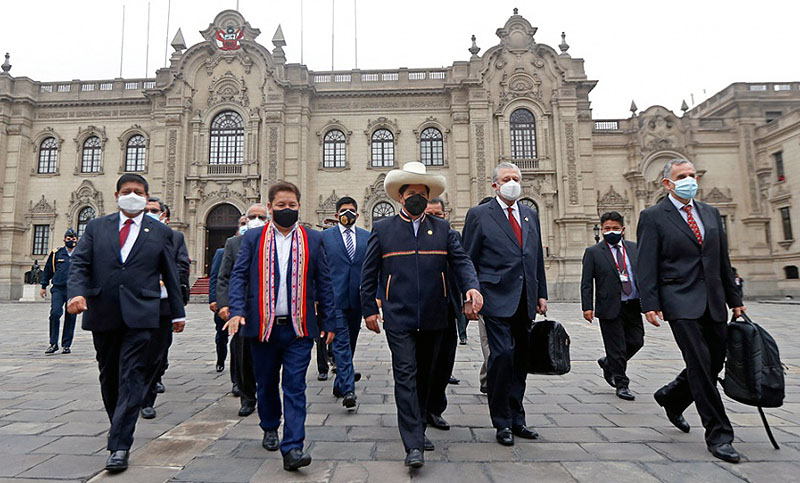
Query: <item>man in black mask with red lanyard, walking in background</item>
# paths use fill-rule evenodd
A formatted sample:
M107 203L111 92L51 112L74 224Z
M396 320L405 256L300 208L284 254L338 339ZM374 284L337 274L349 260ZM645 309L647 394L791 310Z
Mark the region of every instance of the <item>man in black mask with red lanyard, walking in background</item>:
M606 356L597 360L603 377L617 390L617 397L635 399L625 374L628 361L644 345L642 307L636 277L636 243L623 240L625 219L616 211L600 217L603 240L586 249L581 274L583 318L590 324L600 319ZM597 287L597 303L592 293Z

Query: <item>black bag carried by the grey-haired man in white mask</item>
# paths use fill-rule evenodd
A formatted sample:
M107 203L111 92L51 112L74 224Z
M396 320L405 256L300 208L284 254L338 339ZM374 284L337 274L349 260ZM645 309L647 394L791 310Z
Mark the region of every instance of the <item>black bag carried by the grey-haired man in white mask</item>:
M569 335L563 325L547 319L534 322L528 344L528 373L568 373L569 344Z

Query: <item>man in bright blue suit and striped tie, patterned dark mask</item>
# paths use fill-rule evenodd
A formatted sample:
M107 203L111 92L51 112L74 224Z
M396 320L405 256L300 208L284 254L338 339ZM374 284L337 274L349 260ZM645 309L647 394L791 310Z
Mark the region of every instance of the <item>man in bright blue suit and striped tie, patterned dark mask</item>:
M336 310L342 317L331 347L336 361L333 395L341 397L347 409L356 407L355 383L361 374L354 372L353 354L361 330L361 268L367 251L369 232L356 227L358 204L349 196L336 202L339 224L322 232L325 253L331 268Z

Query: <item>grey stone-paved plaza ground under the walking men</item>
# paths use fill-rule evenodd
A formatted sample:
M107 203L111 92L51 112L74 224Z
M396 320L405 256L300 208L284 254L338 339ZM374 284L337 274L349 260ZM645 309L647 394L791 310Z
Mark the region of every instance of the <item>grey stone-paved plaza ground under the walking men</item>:
M192 304L187 331L176 336L158 416L139 420L131 468L110 477L105 464L108 421L88 332L78 330L70 355L45 356L45 303L0 304L0 482L30 480L157 481L800 481L800 306L756 304L749 313L778 341L789 366L787 398L768 410L781 450L771 448L754 408L726 398L734 424L738 465L705 448L694 407L692 431L673 428L652 393L682 367L668 326L648 327L645 347L629 366L635 402L618 399L595 362L603 354L598 324L580 318L578 304L553 303L550 316L572 337L572 372L530 376L528 423L541 439L494 442L486 397L478 391L481 363L477 326L459 346L448 388L450 431L429 429L436 450L426 465L403 467L389 351L384 335L363 331L356 368L359 406L347 413L331 395L331 382L308 378L306 443L310 467L288 473L279 454L261 448L256 415L237 416L230 377L214 371L213 322L205 305Z

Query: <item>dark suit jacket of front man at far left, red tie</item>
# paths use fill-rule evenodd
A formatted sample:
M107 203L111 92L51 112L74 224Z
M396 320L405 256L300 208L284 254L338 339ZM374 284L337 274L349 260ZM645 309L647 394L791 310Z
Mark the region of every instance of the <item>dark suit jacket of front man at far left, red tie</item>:
M109 331L122 327L155 329L159 323L161 286L180 294L172 229L142 218L139 236L125 263L120 259L119 212L95 218L72 253L67 300L83 296L86 330ZM173 319L183 318L183 300L169 297Z

